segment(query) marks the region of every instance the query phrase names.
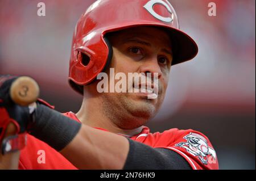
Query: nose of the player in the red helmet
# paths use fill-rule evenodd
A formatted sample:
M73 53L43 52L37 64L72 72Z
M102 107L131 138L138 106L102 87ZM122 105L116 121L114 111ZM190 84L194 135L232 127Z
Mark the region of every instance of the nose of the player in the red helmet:
M140 67L140 72L144 73L146 76L148 76L147 73L151 74L151 78L158 78L160 79L160 77L162 77L162 70L158 64L158 60L157 58L154 58L155 60L147 60L144 61L143 64ZM157 73L158 76L155 77L154 73Z

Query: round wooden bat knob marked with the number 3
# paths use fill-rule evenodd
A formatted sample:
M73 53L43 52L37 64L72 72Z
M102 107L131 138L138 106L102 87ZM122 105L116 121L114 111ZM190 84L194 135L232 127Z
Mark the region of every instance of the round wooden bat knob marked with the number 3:
M10 87L10 96L16 104L19 104L20 106L28 106L38 99L38 83L31 77L19 77Z

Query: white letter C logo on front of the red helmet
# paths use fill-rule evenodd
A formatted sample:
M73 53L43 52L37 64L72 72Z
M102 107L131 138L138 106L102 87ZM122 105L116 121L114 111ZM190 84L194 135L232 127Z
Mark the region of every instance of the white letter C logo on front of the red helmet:
M168 2L168 3L169 3L169 2ZM154 11L154 9L153 9L154 5L156 5L156 4L160 4L160 5L163 5L164 7L166 7L166 9L168 10L168 12L170 12L171 17L163 17L163 16L157 14L157 13ZM169 4L170 4L170 3L169 3ZM150 1L148 1L148 2L146 3L146 5L144 5L143 7L144 7L148 12L150 12L150 14L153 15L155 18L157 18L157 19L159 19L159 20L161 20L161 21L163 21L163 22L165 22L165 23L172 23L172 21L174 20L174 14L172 13L170 6L169 6L166 2L164 2L164 1L162 1L162 0L150 0Z

